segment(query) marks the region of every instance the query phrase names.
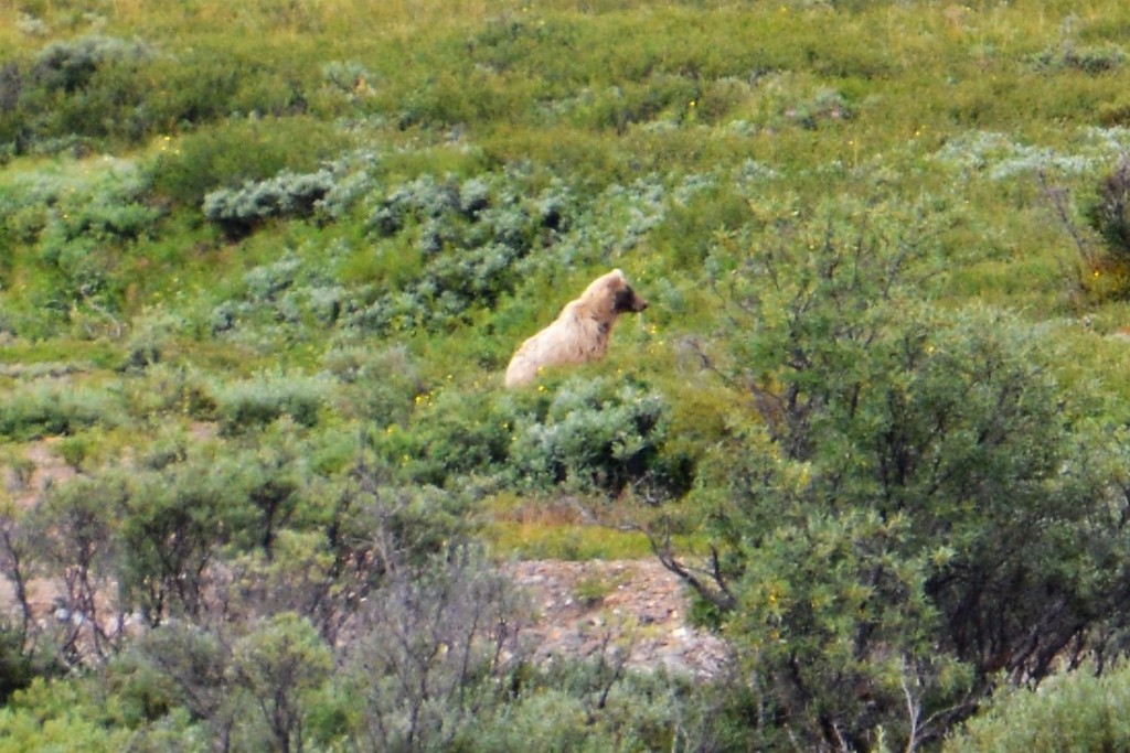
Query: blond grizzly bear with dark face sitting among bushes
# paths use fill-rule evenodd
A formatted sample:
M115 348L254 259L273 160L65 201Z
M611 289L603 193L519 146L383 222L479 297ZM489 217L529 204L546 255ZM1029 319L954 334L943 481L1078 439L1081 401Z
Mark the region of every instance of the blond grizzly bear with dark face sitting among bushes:
M612 270L597 278L553 324L522 343L506 368L506 386L529 384L547 366L603 358L619 315L645 308L647 301L636 295L624 272Z

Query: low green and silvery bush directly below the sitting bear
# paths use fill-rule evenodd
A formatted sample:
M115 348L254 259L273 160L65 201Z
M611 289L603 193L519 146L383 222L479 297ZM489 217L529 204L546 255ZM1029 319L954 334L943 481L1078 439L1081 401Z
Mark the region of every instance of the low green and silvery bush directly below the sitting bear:
M693 461L668 447L670 408L646 385L582 376L525 395L441 389L416 408L407 427L374 441L417 482L479 478L608 497L631 487L660 500L694 480Z

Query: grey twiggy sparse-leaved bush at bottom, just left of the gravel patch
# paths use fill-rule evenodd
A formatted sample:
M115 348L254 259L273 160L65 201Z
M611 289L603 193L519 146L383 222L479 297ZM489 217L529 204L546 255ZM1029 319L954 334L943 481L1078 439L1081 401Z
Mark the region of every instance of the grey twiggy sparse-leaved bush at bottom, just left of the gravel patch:
M397 573L373 594L340 680L349 716L382 750L447 750L503 706L525 655L520 596L473 551Z

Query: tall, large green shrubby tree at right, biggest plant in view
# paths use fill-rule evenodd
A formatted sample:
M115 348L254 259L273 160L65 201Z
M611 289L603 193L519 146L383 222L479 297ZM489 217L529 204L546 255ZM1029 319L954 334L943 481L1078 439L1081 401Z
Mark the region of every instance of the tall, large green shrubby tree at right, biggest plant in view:
M718 270L748 412L701 492L710 577L661 551L746 650L764 734L816 748L914 748L1125 612L1125 499L1041 342L922 303L930 236L888 211L773 218Z

